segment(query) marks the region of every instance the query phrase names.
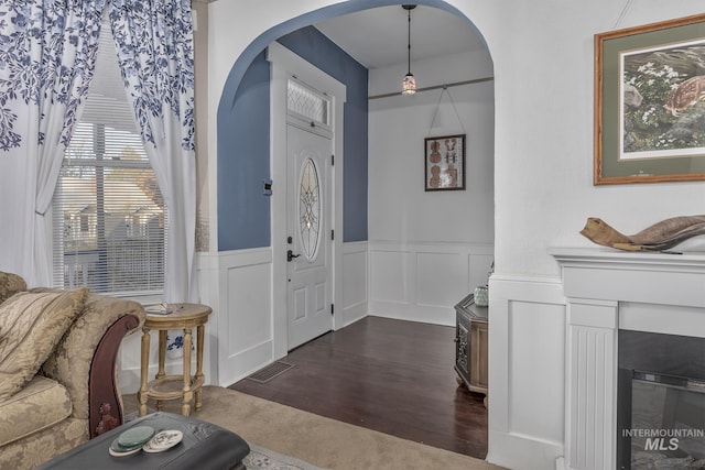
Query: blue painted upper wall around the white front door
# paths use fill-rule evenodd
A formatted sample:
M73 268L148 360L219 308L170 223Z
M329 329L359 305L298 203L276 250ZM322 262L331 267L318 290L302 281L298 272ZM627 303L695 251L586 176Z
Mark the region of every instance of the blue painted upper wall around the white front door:
M278 40L347 87L344 108L344 241L367 240L367 69L313 26ZM237 90L226 83L232 106L218 112L218 251L269 247L270 76L262 52ZM223 110L221 110L223 111ZM276 190L276 182L273 184Z

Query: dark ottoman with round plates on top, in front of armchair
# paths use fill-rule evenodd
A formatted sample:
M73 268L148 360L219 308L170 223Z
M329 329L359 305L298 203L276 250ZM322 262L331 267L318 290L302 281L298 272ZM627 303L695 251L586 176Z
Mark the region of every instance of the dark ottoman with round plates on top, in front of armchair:
M112 457L108 449L113 439L133 426L151 426L156 433L178 429L184 438L176 446L158 453L140 451L127 457ZM123 424L66 453L37 467L39 469L245 469L242 459L250 446L237 434L212 423L172 413L152 413Z

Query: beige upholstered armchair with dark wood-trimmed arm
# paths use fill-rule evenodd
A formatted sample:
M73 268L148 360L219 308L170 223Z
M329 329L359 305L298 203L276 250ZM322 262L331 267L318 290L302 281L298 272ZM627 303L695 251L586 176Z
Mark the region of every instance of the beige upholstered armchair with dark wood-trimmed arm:
M0 467L30 469L122 424L116 361L135 302L26 289L0 272Z

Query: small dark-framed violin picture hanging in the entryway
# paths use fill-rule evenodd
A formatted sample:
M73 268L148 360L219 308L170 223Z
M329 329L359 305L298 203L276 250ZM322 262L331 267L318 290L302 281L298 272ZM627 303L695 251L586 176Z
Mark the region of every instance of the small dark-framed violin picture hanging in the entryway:
M465 134L424 139L425 190L465 189Z

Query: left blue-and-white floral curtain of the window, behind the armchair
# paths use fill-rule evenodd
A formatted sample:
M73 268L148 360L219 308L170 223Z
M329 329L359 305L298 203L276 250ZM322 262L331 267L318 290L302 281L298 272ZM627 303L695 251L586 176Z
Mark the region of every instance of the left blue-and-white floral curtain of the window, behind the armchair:
M105 0L0 0L0 270L51 278L50 207L95 66Z

